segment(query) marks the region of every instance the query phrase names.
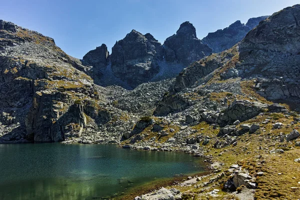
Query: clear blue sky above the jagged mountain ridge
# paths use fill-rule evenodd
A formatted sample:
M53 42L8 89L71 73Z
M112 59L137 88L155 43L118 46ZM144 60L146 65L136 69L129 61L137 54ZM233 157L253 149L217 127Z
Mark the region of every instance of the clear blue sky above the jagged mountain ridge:
M36 30L62 50L82 56L105 43L109 52L131 29L161 43L190 21L197 37L236 20L271 15L299 0L2 0L0 19Z

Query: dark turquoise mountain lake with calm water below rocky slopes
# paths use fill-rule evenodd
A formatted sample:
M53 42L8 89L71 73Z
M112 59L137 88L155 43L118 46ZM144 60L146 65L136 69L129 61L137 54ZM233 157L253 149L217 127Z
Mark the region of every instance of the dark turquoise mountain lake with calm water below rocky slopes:
M117 145L0 144L0 199L94 199L203 171L198 157Z

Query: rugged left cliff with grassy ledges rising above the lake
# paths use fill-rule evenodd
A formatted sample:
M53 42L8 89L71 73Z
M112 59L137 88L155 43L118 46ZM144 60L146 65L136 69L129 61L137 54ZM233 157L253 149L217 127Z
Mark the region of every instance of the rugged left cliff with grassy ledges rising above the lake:
M60 141L85 127L92 79L54 40L0 20L1 141ZM71 116L71 117L70 117Z

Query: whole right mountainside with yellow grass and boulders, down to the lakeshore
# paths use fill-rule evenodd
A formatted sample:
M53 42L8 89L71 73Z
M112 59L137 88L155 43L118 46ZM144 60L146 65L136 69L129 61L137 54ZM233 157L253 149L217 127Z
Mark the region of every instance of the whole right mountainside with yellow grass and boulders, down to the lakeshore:
M211 174L167 187L185 199L297 199L299 22L300 4L284 8L183 69L123 146L204 157Z

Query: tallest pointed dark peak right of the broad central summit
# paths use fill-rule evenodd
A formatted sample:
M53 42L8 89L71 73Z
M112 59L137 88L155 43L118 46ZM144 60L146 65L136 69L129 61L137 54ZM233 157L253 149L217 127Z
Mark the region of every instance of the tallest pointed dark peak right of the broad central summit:
M163 48L165 60L186 66L211 53L211 49L197 38L196 29L189 21L182 23L176 34L165 39Z

